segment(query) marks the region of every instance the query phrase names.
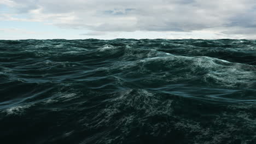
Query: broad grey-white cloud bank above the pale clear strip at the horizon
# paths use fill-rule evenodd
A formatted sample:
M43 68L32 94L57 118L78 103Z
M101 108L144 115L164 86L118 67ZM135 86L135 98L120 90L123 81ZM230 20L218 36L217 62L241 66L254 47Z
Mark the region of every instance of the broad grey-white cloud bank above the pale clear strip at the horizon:
M80 35L208 31L254 39L256 34L255 0L1 0L0 4L10 9L0 14L0 20L90 31Z

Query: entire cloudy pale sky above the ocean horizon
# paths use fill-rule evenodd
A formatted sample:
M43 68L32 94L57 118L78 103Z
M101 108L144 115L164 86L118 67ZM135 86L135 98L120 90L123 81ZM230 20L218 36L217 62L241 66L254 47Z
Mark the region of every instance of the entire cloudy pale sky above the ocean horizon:
M0 0L0 39L256 39L255 0Z

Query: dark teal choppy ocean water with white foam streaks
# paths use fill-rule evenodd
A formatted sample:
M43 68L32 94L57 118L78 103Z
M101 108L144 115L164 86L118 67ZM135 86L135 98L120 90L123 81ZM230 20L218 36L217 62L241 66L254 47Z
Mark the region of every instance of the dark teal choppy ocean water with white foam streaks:
M256 40L0 40L1 143L256 143Z

